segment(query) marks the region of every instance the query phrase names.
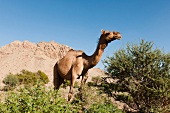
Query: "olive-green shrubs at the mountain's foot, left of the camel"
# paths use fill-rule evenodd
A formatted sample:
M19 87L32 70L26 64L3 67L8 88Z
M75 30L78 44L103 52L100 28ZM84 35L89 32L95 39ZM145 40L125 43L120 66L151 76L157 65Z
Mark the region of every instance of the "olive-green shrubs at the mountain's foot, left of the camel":
M19 85L25 85L29 87L35 85L37 82L47 84L49 82L48 76L40 70L38 70L36 73L27 70L22 70L21 73L10 73L4 78L3 83L6 86L3 90L13 90L16 86Z

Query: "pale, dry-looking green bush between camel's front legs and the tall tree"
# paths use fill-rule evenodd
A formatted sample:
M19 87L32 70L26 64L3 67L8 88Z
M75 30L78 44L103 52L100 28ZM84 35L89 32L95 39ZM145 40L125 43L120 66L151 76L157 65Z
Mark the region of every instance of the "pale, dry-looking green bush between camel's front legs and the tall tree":
M79 106L83 113L122 113L110 102L105 94L101 94L96 87L85 85L77 93L72 105Z

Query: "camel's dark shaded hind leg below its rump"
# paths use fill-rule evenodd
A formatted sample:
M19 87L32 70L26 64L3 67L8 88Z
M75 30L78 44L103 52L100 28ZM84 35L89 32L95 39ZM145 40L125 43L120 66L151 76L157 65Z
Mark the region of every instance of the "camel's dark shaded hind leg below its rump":
M54 89L59 89L60 85L64 82L64 79L58 74L57 71L58 64L56 63L53 70L53 84Z

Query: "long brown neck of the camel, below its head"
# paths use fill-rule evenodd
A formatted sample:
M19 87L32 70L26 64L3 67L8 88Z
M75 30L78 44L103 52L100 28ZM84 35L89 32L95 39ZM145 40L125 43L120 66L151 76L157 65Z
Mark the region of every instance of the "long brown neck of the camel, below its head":
M89 65L90 67L94 67L97 65L97 63L100 61L102 54L104 52L104 49L107 47L107 44L101 44L100 42L97 45L97 48L93 55L91 55L89 58Z

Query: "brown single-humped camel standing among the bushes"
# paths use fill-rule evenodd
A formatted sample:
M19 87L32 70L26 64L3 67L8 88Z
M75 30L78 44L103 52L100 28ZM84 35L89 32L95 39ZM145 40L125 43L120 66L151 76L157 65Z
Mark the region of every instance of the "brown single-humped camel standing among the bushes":
M64 79L70 80L70 90L68 94L68 101L72 98L73 87L76 79L81 79L80 88L85 84L88 78L88 70L100 61L104 49L107 47L108 43L116 39L120 40L122 38L119 32L101 31L97 48L95 52L88 56L81 50L69 50L68 53L60 59L54 66L53 76L54 76L54 89L58 90L60 85L64 82Z

